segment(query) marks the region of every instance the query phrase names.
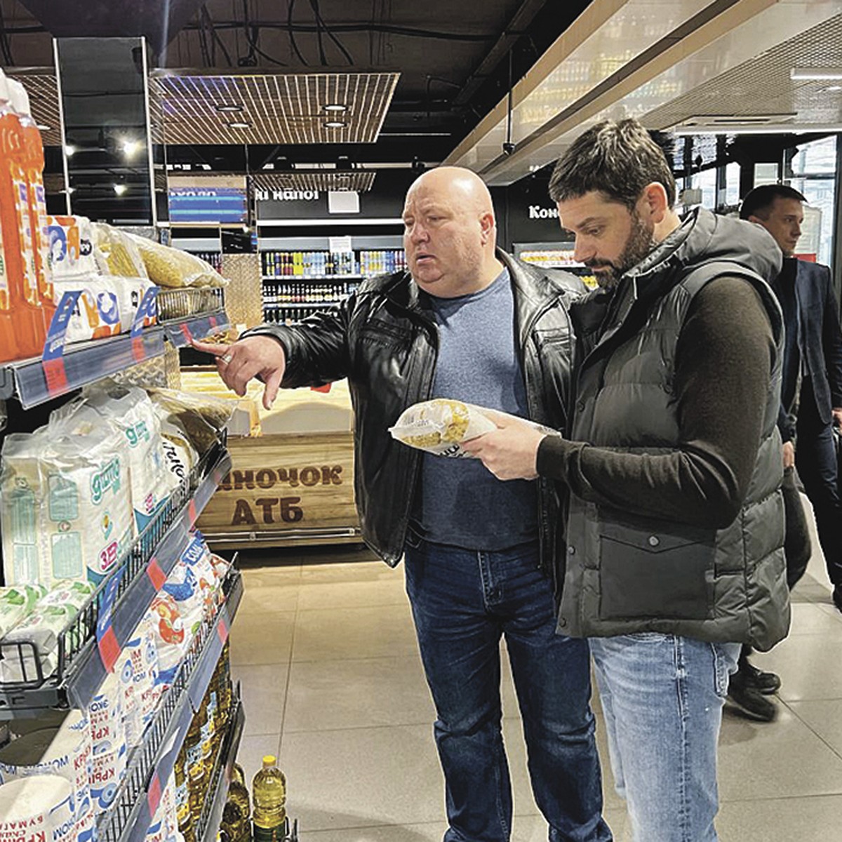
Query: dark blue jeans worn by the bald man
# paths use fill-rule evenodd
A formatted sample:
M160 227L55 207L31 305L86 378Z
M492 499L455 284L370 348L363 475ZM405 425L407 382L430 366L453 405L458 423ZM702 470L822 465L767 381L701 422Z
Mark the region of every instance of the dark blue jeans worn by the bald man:
M506 842L509 765L500 730L506 638L532 791L553 842L609 842L590 711L588 643L555 634L537 546L472 552L408 534L404 563L418 646L438 720L444 842Z

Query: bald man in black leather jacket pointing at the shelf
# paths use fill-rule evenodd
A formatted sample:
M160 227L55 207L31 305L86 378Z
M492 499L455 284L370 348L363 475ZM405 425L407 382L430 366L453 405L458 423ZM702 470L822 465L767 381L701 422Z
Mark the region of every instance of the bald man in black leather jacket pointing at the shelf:
M237 394L347 377L354 403L356 503L365 542L407 593L438 719L445 842L509 839L512 797L500 731L505 637L549 839L603 842L587 642L555 634L563 577L552 482L501 482L480 461L392 440L402 411L458 398L554 428L568 414L573 347L566 301L578 279L495 248L491 196L470 170L442 167L409 188L409 272L366 280L300 325L264 325L216 354ZM408 781L409 784L409 781Z

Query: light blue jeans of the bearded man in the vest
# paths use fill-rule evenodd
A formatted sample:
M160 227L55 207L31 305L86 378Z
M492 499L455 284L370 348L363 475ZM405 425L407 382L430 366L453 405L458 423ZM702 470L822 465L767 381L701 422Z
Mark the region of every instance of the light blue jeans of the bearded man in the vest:
M590 649L635 842L715 842L717 739L740 645L642 632Z

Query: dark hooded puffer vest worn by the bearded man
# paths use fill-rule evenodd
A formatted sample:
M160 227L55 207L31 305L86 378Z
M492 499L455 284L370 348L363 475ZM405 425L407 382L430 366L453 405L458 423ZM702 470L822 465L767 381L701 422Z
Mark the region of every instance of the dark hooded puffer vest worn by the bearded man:
M754 473L733 523L706 528L571 498L560 632L664 632L761 650L786 635L781 438L775 426L783 324L761 277L774 277L779 265L775 243L758 226L699 210L621 280L610 328L578 371L571 440L632 453L678 447L676 347L694 296L717 277L754 285L778 353Z

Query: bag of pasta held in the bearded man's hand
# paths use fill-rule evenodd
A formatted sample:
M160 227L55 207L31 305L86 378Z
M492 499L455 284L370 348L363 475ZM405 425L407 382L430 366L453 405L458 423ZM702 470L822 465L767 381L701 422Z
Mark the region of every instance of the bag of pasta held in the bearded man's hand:
M426 450L436 456L472 458L461 449L460 442L497 429L482 413L481 407L446 397L415 403L404 409L394 427L393 439L404 445Z

